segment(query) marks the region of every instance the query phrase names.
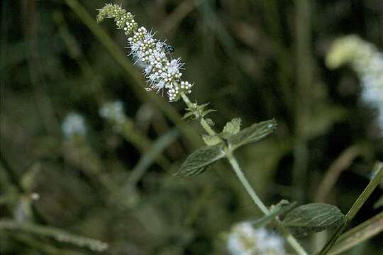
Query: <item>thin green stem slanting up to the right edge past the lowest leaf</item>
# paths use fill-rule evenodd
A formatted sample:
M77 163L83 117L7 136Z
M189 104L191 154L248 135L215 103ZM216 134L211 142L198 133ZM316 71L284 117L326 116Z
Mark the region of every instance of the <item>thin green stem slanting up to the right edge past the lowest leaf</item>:
M374 179L368 183L365 190L360 194L359 198L355 201L353 206L348 211L347 215L345 216L345 224L338 227L338 229L335 230L335 233L333 236L328 240L325 246L323 246L323 249L319 253L319 255L327 254L328 251L330 251L331 247L335 244L336 240L340 237L340 234L345 230L347 225L353 220L357 212L362 208L362 205L365 203L367 198L370 197L372 191L379 185L379 183L383 180L383 163L377 164L377 174L375 174Z

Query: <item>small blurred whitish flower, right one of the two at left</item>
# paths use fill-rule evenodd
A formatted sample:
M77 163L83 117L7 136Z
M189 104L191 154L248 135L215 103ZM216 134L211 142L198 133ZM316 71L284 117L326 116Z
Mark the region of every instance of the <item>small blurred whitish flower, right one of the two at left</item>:
M116 130L121 130L121 126L126 120L125 113L123 113L123 103L121 101L104 103L99 113L102 118L110 121Z

